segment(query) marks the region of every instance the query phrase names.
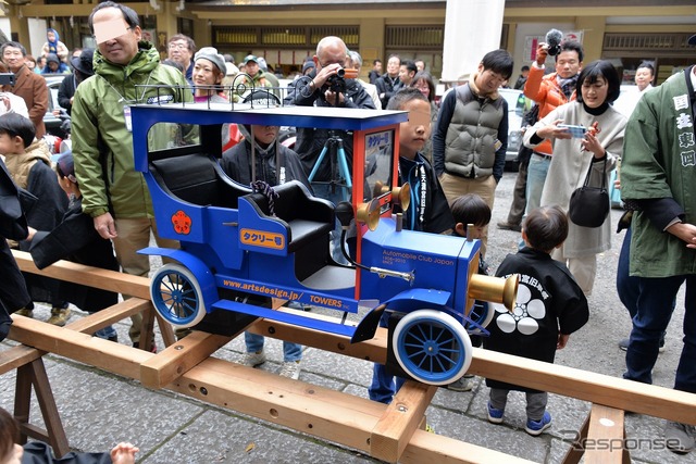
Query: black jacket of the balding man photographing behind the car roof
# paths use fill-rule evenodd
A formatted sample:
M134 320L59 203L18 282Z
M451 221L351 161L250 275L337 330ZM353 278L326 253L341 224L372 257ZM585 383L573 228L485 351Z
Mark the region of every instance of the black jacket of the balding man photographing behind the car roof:
M311 74L313 77L315 74ZM304 87L309 86L310 79L299 78L293 81L288 88L288 95L285 97L285 104L295 104L297 106L328 106L333 108L324 99L321 89L309 92ZM361 108L374 110L374 102L364 87L355 79L346 79L345 108ZM343 140L346 161L352 166L352 131L332 130L333 135ZM319 154L326 145L332 134L327 129L316 129L312 127L298 127L297 141L295 151L300 155L304 173L309 176L319 159ZM316 175L312 181L332 180L331 163L328 156L322 162Z

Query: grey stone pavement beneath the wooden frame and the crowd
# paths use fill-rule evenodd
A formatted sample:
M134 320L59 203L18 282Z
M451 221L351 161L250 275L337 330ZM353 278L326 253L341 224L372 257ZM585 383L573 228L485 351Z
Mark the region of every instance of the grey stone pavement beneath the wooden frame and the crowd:
M498 230L496 222L507 217L514 173L506 173L498 186L489 231L487 261L495 269L507 253L514 252L518 234ZM612 211L616 224L620 212ZM571 336L569 346L558 352L557 363L611 376L624 368L624 353L617 342L627 336L630 321L616 294L616 263L623 234L614 236L613 248L599 259L595 292L589 299L591 321ZM671 387L681 353L683 294L668 329L667 351L655 369L655 384ZM46 321L49 310L35 311ZM74 312L75 317L83 313ZM128 340L129 322L116 325L121 342ZM163 348L158 336L157 342ZM0 352L13 342L0 343ZM269 362L261 368L276 372L282 361L282 343L266 340ZM237 337L214 356L239 361L244 340ZM138 462L146 464L184 463L358 463L374 462L370 456L340 446L320 441L294 430L234 411L198 402L165 390L153 391L139 383L102 372L58 355L44 358L51 388L71 447L82 451L104 451L122 440L140 448ZM372 364L314 348L306 348L300 380L366 398ZM0 376L0 405L12 410L13 373ZM589 404L550 394L548 410L554 426L540 437L524 432L524 398L511 393L502 425L486 419L488 389L481 378L469 392L440 388L427 410L427 423L437 434L498 450L538 463L560 462L575 437ZM33 422L40 424L40 412L33 401ZM626 417L633 462L696 463L696 452L681 456L652 446L648 440L661 438L663 421L642 415ZM646 441L643 441L646 440Z

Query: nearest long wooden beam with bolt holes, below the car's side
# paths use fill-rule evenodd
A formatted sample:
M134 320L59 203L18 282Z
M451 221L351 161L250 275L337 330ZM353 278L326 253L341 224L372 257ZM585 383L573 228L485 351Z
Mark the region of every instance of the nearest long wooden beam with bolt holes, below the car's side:
M386 405L261 369L210 358L170 389L219 406L370 453L372 431ZM417 430L402 463L529 463L460 440ZM451 454L450 454L451 453Z

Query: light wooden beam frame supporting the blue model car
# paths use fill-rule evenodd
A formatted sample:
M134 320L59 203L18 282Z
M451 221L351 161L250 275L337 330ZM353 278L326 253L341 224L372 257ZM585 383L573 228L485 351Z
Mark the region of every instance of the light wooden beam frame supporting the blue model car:
M15 258L24 271L40 273L35 268L32 271L34 266L26 253L15 252ZM128 289L138 296L147 293L147 279L119 273L102 271L101 277L95 279L91 268L63 262L47 271L53 277L65 278L60 272L63 265L66 265L71 279L84 283L80 276L86 273L89 285L112 290ZM117 321L133 311L150 311L149 304L149 301L129 299L120 303L117 309L114 306L110 316L100 312L64 328L15 316L10 338L138 379L151 388L167 388L390 462L527 462L419 429L423 413L435 393L434 387L407 383L402 393L395 398L394 405L387 406L210 358L231 337L194 333L156 355L75 331L77 328L91 330L100 324L99 319L104 322L102 317ZM373 340L355 346L345 337L264 319L257 321L249 329L363 360L381 363L386 360L385 329L378 329ZM593 403L582 430L585 439L623 439L624 410L686 424L696 422L696 396L692 393L475 348L473 356L469 369L472 374ZM630 459L626 452L616 449L575 448L566 462L576 462L583 453L586 462L625 462Z

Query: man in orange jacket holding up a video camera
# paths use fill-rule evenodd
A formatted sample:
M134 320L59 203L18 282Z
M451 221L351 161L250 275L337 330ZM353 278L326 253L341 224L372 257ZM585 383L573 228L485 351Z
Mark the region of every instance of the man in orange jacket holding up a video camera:
M561 41L562 36L557 29L548 32L546 42L539 43L536 49L536 60L532 63L524 84L524 96L539 106L539 120L557 106L575 100L575 84L583 66L583 47L573 40ZM556 72L544 75L547 55L556 58ZM526 171L525 215L539 208L552 154L549 140L544 140L534 148Z

